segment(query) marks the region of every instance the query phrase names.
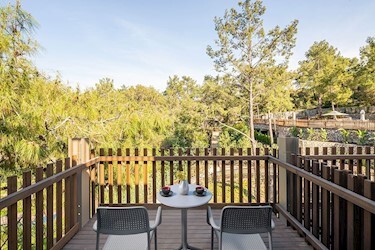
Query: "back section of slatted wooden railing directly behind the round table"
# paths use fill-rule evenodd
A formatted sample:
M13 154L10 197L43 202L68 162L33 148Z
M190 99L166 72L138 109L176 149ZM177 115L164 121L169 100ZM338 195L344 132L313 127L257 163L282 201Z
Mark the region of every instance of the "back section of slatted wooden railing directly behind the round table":
M213 191L213 203L273 203L276 168L268 149L250 155L250 149L100 150L99 167L91 171L91 204L155 204L162 186L176 184L179 169L189 183ZM276 155L276 151L273 152ZM95 187L98 185L98 188Z

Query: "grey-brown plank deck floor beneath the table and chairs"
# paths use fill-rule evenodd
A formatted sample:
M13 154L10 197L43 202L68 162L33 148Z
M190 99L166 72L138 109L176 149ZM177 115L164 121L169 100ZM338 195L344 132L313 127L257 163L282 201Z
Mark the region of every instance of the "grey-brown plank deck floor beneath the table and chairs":
M149 210L150 219L155 218L156 210ZM214 216L220 217L220 210L213 210ZM179 247L181 242L181 212L175 209L163 209L162 224L158 227L158 249L170 250ZM95 218L90 220L65 246L64 249L95 249L96 234L92 230ZM312 249L305 240L291 227L284 225L274 217L276 228L273 235L274 249ZM210 249L210 227L206 223L206 211L203 209L188 210L188 242L191 246L201 249ZM268 246L268 238L262 235ZM101 236L101 247L106 241L106 236ZM215 238L214 249L217 249ZM152 248L153 249L153 248Z

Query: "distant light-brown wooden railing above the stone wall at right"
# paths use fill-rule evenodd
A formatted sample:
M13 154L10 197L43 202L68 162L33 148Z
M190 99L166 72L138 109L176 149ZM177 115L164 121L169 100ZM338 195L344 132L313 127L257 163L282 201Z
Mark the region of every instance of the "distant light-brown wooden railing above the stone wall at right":
M268 119L254 119L255 124L268 124ZM375 121L360 120L282 120L277 119L273 123L282 127L298 128L331 128L331 129L360 129L375 130Z

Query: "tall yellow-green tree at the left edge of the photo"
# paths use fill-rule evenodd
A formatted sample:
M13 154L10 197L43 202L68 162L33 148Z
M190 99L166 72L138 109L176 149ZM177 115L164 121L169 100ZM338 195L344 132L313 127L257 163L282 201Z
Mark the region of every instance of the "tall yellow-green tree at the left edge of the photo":
M50 149L39 138L41 123L27 98L33 84L45 81L28 59L37 50L35 26L19 1L0 7L0 165L5 168L36 164Z

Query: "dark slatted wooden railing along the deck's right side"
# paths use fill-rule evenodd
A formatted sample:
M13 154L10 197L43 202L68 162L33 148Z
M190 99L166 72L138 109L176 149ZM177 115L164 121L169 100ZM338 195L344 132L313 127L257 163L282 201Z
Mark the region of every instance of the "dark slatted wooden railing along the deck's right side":
M288 170L287 209L276 205L277 210L315 248L375 248L374 181L302 156L294 156L293 164L270 161Z

